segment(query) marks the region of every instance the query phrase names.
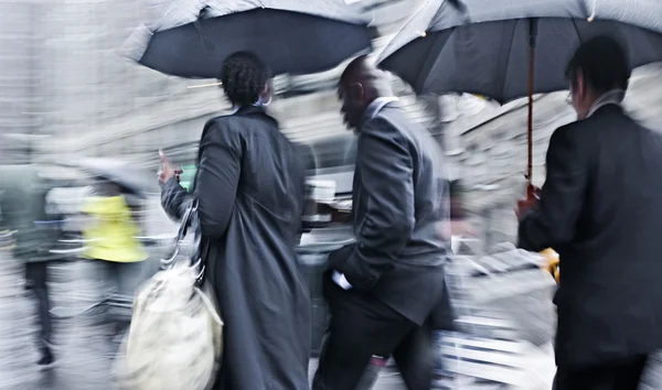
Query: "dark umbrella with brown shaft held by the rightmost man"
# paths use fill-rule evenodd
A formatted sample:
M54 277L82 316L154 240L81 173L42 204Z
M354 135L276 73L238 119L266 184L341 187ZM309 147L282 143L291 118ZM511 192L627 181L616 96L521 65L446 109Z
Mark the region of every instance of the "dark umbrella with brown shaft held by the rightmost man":
M418 94L528 96L531 180L532 95L567 89L567 61L596 35L623 42L632 67L662 61L660 15L658 0L429 0L378 64Z

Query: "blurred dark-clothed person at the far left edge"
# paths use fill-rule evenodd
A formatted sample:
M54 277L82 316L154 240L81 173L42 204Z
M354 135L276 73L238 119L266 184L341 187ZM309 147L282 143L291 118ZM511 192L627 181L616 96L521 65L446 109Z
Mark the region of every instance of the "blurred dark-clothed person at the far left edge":
M13 230L14 258L25 263L25 286L38 302L39 349L41 366L53 362L51 347L53 326L49 297L49 261L58 256L51 252L60 239L60 216L46 210L50 191L40 178L35 165L1 166L4 191L0 199L6 227Z

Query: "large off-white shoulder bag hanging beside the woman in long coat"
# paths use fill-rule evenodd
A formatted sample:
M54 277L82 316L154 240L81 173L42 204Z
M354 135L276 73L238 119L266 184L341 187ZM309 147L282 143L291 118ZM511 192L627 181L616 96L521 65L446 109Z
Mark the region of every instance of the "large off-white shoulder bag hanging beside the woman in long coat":
M182 240L194 229L195 261L178 261ZM126 390L207 390L222 358L223 322L210 283L203 282L197 202L186 209L174 252L140 289L131 326L116 362ZM203 285L203 288L201 288Z

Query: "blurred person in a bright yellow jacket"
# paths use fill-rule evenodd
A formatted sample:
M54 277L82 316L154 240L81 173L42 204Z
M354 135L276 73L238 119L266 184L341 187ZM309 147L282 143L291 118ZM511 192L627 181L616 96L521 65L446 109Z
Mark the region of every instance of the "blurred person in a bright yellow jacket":
M113 182L99 180L94 187L94 196L86 199L82 212L92 217L83 231L88 247L83 256L100 260L106 269L106 282L113 285L111 295L106 297L104 304L130 304L142 273L140 262L148 258L148 253L136 238L139 230L122 188ZM115 325L113 337L117 338L127 329L130 317L113 315L111 322Z

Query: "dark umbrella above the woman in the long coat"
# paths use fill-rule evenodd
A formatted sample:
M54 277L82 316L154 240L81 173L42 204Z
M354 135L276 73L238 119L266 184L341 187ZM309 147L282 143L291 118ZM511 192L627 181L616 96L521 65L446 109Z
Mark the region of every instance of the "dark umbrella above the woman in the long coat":
M180 0L164 3L122 46L154 71L217 78L232 53L259 55L274 75L328 71L371 50L370 18L342 0Z

